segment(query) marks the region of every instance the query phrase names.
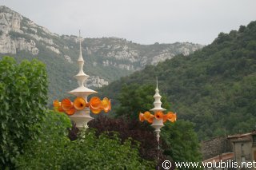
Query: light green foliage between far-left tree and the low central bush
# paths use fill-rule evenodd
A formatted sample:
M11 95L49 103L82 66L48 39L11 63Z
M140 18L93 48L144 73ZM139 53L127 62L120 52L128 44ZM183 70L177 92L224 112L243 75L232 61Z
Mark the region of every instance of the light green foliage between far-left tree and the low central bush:
M70 142L66 128L71 126L70 118L65 113L48 110L45 116L42 122L35 125L42 127L38 137L24 144L24 152L16 161L17 169L60 169L60 162L54 161L66 154L66 144Z

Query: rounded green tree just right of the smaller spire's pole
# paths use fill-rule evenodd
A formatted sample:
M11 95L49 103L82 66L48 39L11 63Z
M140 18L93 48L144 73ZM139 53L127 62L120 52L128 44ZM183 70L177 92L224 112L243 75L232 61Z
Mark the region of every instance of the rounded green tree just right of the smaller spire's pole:
M200 162L202 160L198 136L190 121L178 120L174 124L166 123L162 128L161 136L167 144L164 154L170 156L172 160L176 162Z

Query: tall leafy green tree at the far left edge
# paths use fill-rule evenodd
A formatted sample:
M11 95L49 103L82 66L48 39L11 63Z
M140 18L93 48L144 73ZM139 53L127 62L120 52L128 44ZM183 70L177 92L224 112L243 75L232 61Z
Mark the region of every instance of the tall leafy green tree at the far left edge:
M40 132L47 101L46 69L39 61L0 61L0 167L13 168L23 144Z

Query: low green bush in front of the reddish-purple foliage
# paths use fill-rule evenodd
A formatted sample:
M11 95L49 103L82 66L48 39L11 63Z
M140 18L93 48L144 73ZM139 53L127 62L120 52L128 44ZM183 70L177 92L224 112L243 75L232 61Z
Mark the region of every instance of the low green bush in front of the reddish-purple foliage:
M154 169L153 162L139 156L138 147L132 148L130 140L122 143L118 135L96 137L86 132L84 138L74 140L67 152L62 169Z

